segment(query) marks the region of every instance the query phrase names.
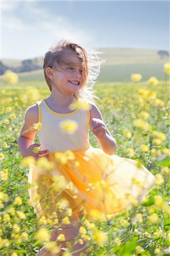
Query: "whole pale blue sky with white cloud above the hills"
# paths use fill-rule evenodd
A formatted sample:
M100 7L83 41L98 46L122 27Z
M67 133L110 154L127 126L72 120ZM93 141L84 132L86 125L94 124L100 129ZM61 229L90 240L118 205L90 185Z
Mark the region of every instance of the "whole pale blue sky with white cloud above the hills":
M1 1L1 58L44 56L60 39L86 49L169 49L168 1Z

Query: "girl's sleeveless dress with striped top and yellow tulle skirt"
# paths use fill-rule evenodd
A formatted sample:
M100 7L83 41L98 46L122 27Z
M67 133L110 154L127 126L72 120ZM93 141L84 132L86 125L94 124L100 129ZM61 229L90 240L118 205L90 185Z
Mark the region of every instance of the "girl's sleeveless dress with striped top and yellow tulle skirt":
M41 148L49 150L49 163L60 159L53 170L45 172L30 164L28 193L38 218L55 212L60 199L68 200L72 214L84 210L89 218L95 210L114 217L134 202L142 202L154 187L155 176L135 160L107 155L101 148L90 146L89 110L77 108L60 114L50 109L45 99L36 104L42 123L38 131ZM60 122L68 120L77 122L74 134L61 129Z

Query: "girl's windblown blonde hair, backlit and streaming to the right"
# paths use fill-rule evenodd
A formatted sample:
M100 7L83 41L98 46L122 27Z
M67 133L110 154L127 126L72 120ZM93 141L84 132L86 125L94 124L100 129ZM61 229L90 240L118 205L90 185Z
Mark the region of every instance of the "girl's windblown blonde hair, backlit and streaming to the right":
M46 69L48 67L57 69L58 66L62 67L65 64L71 64L71 59L67 55L68 50L78 54L78 57L80 57L81 60L82 86L77 93L74 93L74 97L92 102L94 101L94 98L99 99L94 95L96 91L92 89L99 75L100 65L105 62L104 60L99 59L97 55L101 52L94 50L87 52L80 45L73 43L70 40L60 40L59 43L53 45L49 48L49 51L45 53L43 69L45 81L47 82L49 89L52 90L52 85L46 74ZM72 65L74 65L74 63L72 63Z

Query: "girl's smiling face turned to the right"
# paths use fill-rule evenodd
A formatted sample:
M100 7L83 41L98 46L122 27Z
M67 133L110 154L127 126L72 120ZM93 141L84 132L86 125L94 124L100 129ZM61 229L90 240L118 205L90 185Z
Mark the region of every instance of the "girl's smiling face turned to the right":
M64 61L59 62L52 68L52 87L55 86L63 93L76 93L83 85L84 65L78 53L65 50Z

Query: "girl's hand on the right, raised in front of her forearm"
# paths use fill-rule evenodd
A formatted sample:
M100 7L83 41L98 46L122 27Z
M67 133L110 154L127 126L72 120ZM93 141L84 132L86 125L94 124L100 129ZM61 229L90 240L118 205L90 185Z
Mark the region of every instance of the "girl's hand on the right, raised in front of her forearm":
M98 139L104 139L106 137L106 125L101 119L92 118L90 128Z

